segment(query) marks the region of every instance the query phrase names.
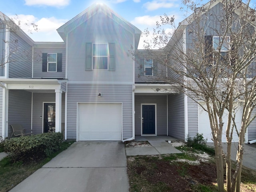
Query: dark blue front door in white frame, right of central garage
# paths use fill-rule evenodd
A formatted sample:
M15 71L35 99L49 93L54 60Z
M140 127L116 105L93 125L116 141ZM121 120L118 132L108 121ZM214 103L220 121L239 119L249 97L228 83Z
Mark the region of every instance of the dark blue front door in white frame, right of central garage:
M156 134L155 106L142 105L142 134Z

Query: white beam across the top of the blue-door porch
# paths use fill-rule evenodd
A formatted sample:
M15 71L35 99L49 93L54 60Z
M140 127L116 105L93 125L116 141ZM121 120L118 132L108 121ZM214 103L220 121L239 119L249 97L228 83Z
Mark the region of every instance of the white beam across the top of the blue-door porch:
M135 94L178 94L176 85L172 84L134 84Z

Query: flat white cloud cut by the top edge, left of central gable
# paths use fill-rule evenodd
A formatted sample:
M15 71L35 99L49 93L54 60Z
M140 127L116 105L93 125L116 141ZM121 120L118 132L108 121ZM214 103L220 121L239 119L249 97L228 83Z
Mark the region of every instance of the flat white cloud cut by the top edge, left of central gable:
M70 3L70 0L25 0L25 5L33 6L33 5L45 5L45 6L53 6L53 7L63 7L67 6Z

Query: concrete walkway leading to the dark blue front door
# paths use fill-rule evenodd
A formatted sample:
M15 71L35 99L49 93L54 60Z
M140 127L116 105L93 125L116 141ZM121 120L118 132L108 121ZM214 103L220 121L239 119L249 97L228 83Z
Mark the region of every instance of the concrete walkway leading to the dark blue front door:
M154 140L148 141L150 147L126 147L127 156L136 156L136 155L160 155L160 154L173 154L173 153L182 153L180 150L171 146L168 142L164 140Z

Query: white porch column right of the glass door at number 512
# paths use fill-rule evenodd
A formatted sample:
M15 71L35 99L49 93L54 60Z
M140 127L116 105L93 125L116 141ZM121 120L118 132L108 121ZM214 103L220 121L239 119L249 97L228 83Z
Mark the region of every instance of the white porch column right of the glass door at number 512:
M55 132L61 132L61 95L62 90L55 90Z

